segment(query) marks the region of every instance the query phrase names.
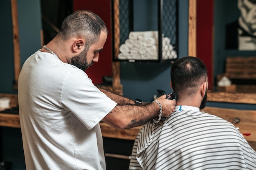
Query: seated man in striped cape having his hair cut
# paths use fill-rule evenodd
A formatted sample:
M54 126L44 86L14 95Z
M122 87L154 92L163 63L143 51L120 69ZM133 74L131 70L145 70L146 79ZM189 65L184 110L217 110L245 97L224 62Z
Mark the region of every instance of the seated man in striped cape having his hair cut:
M175 112L146 123L135 140L130 170L256 169L256 152L233 124L200 112L207 99L207 68L196 57L171 67ZM225 114L225 113L223 113Z

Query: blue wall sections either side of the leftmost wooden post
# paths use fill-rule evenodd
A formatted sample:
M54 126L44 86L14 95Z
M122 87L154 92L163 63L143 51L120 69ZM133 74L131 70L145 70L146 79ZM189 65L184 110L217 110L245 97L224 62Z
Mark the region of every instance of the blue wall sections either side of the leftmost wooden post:
M27 57L41 48L40 0L17 0L18 26L20 35L20 63L23 65ZM0 1L0 93L17 93L13 90L13 39L11 20L11 1Z

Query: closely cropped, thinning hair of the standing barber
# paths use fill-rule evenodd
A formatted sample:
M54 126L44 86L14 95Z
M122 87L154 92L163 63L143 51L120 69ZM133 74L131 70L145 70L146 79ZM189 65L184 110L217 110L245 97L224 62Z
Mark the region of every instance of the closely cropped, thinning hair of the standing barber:
M75 36L83 37L86 46L90 47L99 40L101 31L108 34L106 24L99 15L88 10L77 10L64 19L58 35L64 41Z

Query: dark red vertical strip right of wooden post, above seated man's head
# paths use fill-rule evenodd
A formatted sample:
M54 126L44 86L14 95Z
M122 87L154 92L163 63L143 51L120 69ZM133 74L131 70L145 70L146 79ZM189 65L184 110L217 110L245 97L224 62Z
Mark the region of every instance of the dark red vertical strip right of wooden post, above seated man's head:
M209 90L213 90L213 4L214 0L197 0L196 55L208 70Z

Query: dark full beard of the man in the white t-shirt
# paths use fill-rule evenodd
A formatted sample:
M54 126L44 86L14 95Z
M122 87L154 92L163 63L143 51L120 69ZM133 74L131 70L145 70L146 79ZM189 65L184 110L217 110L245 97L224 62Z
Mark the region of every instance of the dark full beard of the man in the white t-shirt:
M93 64L93 61L91 63L87 62L87 52L88 50L83 50L80 54L72 57L71 60L67 63L72 64L77 68L85 71Z

